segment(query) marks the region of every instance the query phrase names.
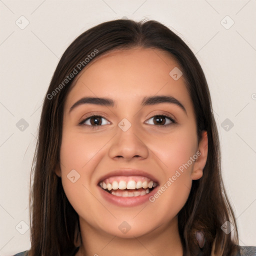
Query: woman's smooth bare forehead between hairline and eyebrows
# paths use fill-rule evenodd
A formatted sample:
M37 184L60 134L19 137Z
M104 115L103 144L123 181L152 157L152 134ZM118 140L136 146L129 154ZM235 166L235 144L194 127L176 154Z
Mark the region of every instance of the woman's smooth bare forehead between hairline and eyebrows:
M66 104L70 106L82 96L107 96L115 101L125 98L134 102L136 97L168 94L191 105L184 77L174 80L171 70L181 67L163 50L113 50L92 59L83 68L74 80Z

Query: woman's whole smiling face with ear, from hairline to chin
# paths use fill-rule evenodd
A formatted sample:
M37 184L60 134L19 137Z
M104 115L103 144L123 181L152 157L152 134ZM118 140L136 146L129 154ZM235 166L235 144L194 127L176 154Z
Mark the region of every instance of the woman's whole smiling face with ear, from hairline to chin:
M185 80L171 76L173 68L181 70L158 49L115 50L76 79L56 174L83 226L133 237L177 221L192 180L202 176L207 140L197 141Z

